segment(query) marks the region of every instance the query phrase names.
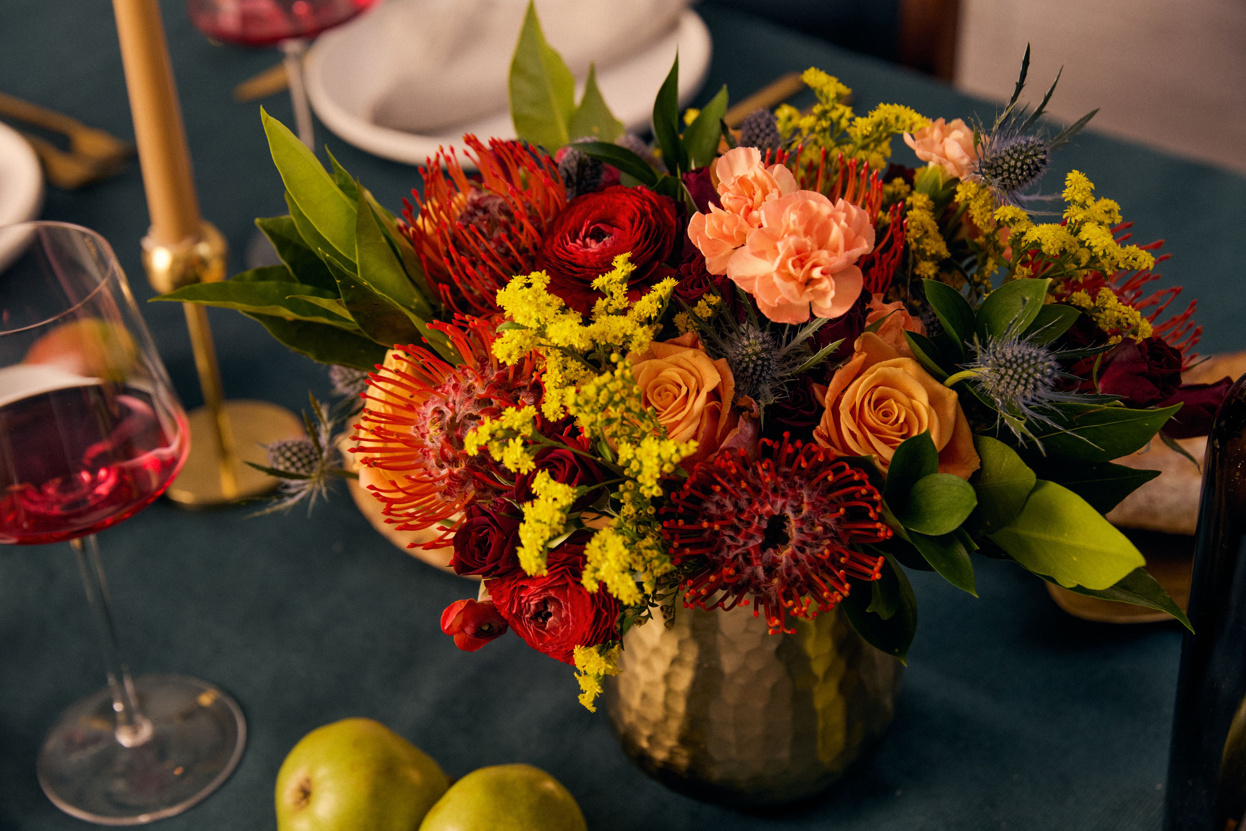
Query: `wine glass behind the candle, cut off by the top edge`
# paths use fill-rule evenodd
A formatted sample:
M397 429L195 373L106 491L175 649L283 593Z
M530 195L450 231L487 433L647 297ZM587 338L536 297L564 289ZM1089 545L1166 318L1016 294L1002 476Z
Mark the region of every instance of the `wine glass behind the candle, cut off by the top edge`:
M310 150L315 136L312 108L303 83L303 56L308 42L326 29L340 26L371 7L376 0L187 0L191 22L212 40L239 46L282 47L290 83L299 138Z

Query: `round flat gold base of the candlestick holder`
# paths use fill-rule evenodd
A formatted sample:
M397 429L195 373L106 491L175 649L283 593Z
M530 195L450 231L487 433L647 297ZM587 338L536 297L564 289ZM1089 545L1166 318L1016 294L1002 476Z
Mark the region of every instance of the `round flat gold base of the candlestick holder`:
M278 480L245 462L268 463L263 445L303 435L303 421L285 407L268 401L245 399L226 401L222 411L229 421L234 452L231 468L233 492L227 493L227 477L221 472L221 457L213 439L216 419L208 407L192 410L191 453L182 472L164 492L173 502L188 508L209 508L263 496L277 487Z

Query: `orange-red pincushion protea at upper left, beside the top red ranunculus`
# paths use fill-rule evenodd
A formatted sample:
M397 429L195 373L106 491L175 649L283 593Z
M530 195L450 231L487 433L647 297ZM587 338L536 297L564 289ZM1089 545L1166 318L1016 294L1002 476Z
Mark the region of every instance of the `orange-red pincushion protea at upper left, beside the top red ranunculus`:
M521 142L491 138L485 147L470 135L464 142L480 179L467 178L452 150L439 151L420 171L424 196L411 192L419 216L404 201L400 227L441 300L487 316L512 275L535 270L536 250L567 204L567 189L553 159Z

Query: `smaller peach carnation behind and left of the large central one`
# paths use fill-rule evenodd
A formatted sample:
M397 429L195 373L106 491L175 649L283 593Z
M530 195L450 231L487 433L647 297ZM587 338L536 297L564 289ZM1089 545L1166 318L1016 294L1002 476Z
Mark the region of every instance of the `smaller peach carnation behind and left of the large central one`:
M756 147L726 151L714 163L719 202L709 213L688 222L688 238L705 255L710 274L726 274L726 262L761 224L761 206L796 189L796 179L782 164L765 167Z

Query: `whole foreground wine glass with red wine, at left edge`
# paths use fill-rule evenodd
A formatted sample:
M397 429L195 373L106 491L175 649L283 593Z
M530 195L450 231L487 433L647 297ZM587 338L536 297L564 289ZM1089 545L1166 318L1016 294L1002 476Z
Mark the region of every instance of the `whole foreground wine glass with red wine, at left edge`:
M69 541L77 557L108 685L61 715L37 771L57 807L91 822L184 811L242 756L245 723L222 690L130 675L96 544L164 492L188 449L108 243L59 222L0 228L0 543Z

